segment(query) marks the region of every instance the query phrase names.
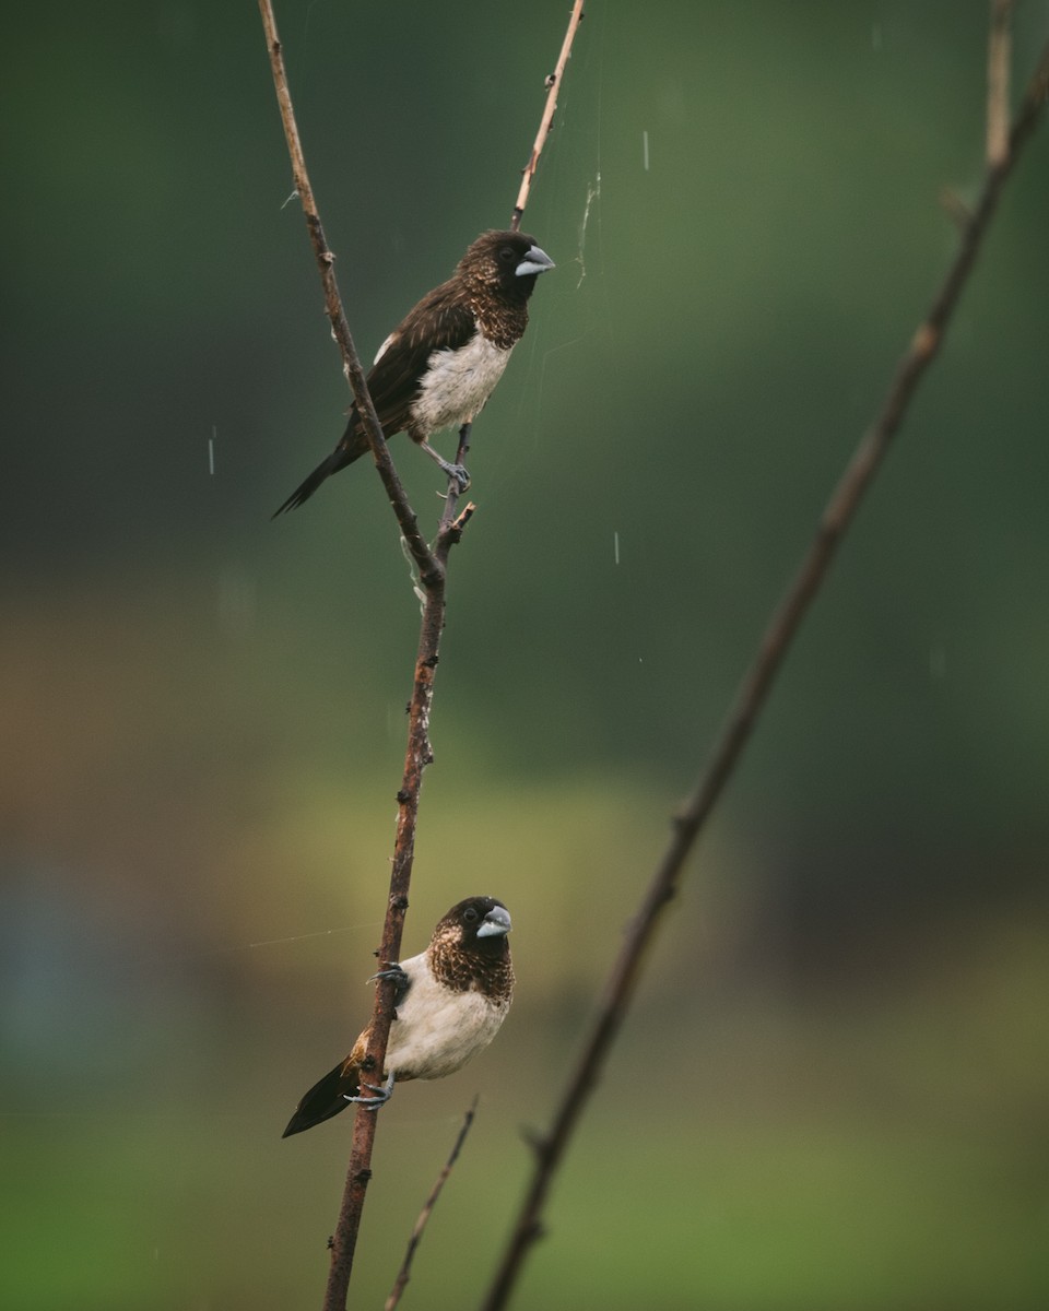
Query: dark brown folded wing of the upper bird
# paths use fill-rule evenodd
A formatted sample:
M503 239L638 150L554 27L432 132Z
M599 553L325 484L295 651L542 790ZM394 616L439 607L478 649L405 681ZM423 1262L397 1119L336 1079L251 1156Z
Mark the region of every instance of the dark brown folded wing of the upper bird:
M368 374L368 391L388 438L408 427L430 355L465 346L476 330L473 311L452 281L424 296L387 337Z

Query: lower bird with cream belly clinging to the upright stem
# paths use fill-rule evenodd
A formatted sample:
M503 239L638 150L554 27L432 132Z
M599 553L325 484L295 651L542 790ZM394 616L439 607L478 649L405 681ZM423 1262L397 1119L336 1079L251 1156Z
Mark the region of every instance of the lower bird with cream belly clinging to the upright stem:
M438 920L425 952L389 964L374 978L395 979L386 1082L362 1083L368 1025L345 1061L303 1096L282 1137L323 1124L353 1103L378 1110L395 1083L443 1079L483 1051L498 1033L514 995L510 912L494 897L468 897ZM362 1097L361 1089L372 1093Z

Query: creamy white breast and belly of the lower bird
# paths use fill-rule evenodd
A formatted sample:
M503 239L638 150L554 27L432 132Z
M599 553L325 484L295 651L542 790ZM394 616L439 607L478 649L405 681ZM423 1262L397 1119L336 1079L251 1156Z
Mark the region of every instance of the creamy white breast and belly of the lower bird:
M443 1079L483 1051L500 1030L509 1003L493 1004L480 992L452 992L429 970L401 966L412 979L389 1030L386 1067L395 1079Z

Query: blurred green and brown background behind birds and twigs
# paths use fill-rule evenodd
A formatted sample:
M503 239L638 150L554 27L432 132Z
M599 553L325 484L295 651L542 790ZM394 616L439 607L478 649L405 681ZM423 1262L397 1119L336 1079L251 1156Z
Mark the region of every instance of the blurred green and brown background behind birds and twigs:
M1016 9L1020 79L1049 5ZM509 220L566 14L278 5L367 358ZM358 1306L475 1091L404 1304L485 1286L521 1130L955 248L986 26L590 8L524 223L557 271L475 429L405 944L496 894L518 1000L383 1112ZM0 1303L319 1306L349 1117L279 1134L368 1012L417 604L367 465L269 522L346 389L254 5L18 5L8 42ZM1042 126L519 1307L1049 1299L1048 220Z

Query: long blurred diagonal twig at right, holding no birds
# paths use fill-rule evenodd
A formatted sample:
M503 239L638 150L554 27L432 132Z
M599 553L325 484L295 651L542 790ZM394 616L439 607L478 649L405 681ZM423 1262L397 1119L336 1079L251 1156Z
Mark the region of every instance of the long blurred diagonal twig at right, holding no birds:
M604 1059L623 1023L645 950L652 944L661 911L677 894L684 861L709 818L754 729L787 650L801 620L823 582L842 536L852 522L863 494L871 485L890 442L906 416L914 392L943 342L959 296L972 271L977 252L998 203L1002 186L1045 108L1049 93L1049 45L1042 51L1024 102L1008 135L1002 161L987 170L980 198L962 231L957 254L936 292L926 320L914 334L889 385L881 410L860 440L852 460L820 520L816 538L795 581L774 612L746 674L736 703L715 745L705 772L688 802L674 821L674 832L648 885L639 914L631 924L619 957L604 986L593 1029L582 1057L561 1096L549 1133L535 1146L535 1168L518 1211L492 1287L481 1303L484 1311L506 1306L526 1255L542 1235L542 1214L553 1175L564 1158L572 1131L601 1075Z

